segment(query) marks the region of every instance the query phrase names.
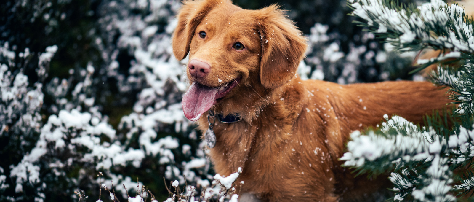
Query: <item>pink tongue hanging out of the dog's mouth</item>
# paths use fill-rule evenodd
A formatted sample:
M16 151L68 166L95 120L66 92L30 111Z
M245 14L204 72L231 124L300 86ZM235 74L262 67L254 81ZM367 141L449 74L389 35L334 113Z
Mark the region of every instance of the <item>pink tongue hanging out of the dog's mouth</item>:
M182 98L184 116L191 121L197 121L201 115L214 104L217 88L207 87L194 82Z

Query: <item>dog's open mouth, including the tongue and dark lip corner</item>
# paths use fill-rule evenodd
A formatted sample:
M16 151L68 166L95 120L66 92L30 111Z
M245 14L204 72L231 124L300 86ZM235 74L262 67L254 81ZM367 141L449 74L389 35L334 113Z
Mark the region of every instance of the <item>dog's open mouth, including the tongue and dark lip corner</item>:
M218 99L226 96L241 78L237 78L219 87L209 87L201 83L194 82L182 98L182 110L184 116L191 121L197 121L201 115L208 111Z

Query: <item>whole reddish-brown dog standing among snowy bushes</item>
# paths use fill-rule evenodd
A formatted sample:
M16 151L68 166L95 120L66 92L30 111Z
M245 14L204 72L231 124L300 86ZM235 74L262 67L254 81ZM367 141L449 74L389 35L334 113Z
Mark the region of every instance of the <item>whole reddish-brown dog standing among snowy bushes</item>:
M243 168L241 193L271 202L363 197L386 179L371 183L340 167L349 133L380 123L384 114L419 122L443 108L445 93L427 82L301 81L295 72L306 48L277 6L246 10L226 0L184 1L173 36L176 58L189 54L184 114L199 119L203 132L209 110L241 116L216 122L210 149L217 173Z

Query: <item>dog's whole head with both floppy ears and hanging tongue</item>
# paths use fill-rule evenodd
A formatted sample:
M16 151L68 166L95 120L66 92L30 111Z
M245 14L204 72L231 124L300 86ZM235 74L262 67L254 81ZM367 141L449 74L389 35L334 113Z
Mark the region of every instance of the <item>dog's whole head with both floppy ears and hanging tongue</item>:
M246 10L226 0L188 0L178 14L173 53L189 54L183 110L197 120L239 88L274 89L295 75L306 39L278 6Z

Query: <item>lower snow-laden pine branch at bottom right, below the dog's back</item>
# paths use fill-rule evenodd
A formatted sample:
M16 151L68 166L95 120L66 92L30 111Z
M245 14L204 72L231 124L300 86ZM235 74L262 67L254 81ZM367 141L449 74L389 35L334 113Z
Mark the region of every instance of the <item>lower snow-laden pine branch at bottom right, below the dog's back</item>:
M386 122L379 130L351 134L348 152L340 159L346 160L344 165L359 173L392 172L394 200L410 196L420 202L455 201L450 194L454 190L453 171L465 167L472 158L474 130L456 122L449 129L438 112L427 117L426 127L398 116L384 118Z

